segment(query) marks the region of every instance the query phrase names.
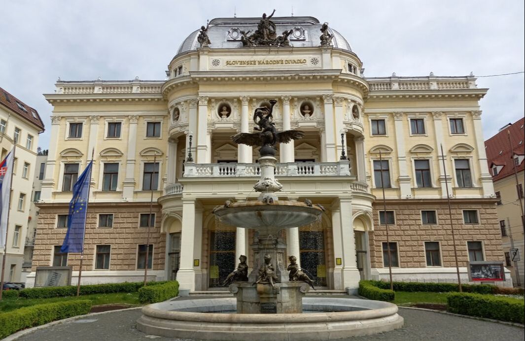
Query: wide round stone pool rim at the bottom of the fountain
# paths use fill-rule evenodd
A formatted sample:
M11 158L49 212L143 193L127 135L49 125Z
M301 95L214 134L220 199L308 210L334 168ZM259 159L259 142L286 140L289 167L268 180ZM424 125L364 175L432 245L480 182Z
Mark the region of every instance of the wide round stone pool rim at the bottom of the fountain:
M304 297L303 314L236 314L235 298L181 300L142 308L139 331L198 340L329 340L403 326L397 306L381 301Z

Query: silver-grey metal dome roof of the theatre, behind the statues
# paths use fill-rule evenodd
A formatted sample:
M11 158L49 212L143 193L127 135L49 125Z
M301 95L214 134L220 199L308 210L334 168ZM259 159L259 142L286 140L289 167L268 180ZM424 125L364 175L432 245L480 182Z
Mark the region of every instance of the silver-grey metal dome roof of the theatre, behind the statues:
M242 48L240 31L253 34L257 29L261 18L215 18L209 22L208 37L211 44L209 48ZM292 47L315 47L320 46L322 24L314 17L272 17L271 21L276 25L277 35L285 30L292 30L289 36ZM348 41L336 30L329 28L333 35L332 46L352 51ZM178 48L177 55L182 52L196 50L200 47L197 36L199 30L190 34Z

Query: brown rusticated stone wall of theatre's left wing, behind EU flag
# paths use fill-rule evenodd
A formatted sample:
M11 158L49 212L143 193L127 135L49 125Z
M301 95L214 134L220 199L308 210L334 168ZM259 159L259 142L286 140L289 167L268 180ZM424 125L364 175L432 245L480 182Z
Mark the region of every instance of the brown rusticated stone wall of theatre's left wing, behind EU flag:
M53 265L53 249L61 245L67 228L57 228L57 215L68 213L68 204L39 204L37 238L33 255L33 271L36 267ZM109 270L137 270L139 244L146 244L148 228L139 227L140 214L149 214L149 203L90 203L86 219L86 238L83 271L95 270L97 245L111 245ZM150 230L153 244L153 269L163 270L165 261L166 233L161 232L160 205L153 205L155 228ZM112 228L99 228L98 215L113 214ZM77 271L80 253L69 253L67 265Z

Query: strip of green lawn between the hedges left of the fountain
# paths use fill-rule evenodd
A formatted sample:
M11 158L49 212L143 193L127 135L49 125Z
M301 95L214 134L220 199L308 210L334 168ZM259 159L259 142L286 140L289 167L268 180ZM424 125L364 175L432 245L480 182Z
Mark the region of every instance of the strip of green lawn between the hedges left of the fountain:
M2 299L0 301L0 312L5 313L12 311L21 307L27 307L35 304L41 303L52 303L52 302L64 302L71 300L90 300L93 302L93 305L99 304L137 304L139 302L139 293L112 293L112 294L92 294L92 295L82 295L82 296L68 296L68 297L54 297L51 299L23 299L22 297L13 297L9 299Z

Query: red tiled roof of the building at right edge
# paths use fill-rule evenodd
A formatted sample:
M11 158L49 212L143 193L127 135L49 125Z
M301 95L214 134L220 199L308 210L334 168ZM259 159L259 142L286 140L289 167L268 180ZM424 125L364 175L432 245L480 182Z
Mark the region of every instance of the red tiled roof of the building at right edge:
M492 176L493 181L514 175L513 155L525 155L523 124L525 124L525 118L509 124L499 133L485 141L485 151L487 153L489 168L492 164L503 166L498 175ZM508 132L510 132L510 144ZM516 171L521 172L523 169L525 169L525 161L522 161L516 167ZM492 170L490 170L490 173L492 174Z

